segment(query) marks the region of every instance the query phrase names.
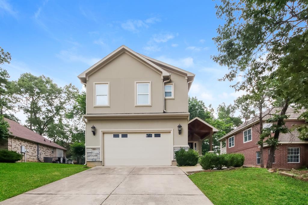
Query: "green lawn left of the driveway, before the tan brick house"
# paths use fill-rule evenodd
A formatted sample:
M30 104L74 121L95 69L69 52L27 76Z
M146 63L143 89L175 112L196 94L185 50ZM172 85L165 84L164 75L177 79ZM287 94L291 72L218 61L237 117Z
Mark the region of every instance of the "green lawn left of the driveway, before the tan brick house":
M77 164L0 163L0 201L86 169Z

